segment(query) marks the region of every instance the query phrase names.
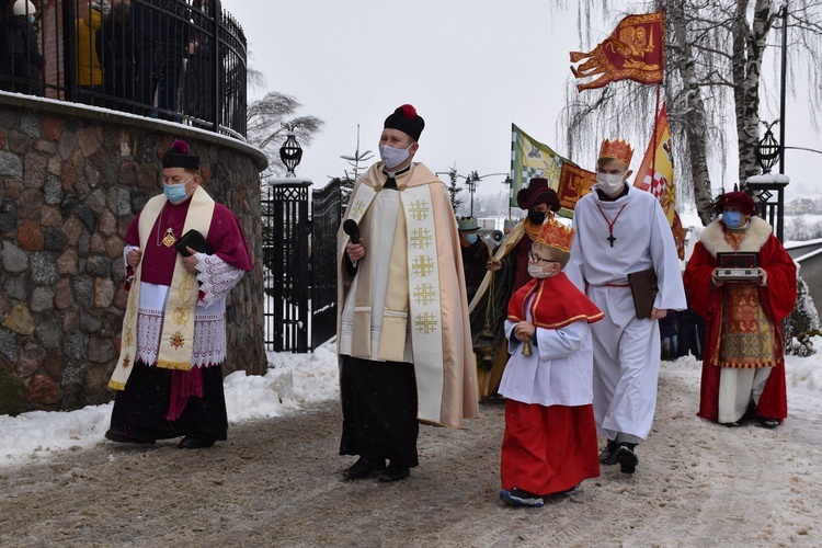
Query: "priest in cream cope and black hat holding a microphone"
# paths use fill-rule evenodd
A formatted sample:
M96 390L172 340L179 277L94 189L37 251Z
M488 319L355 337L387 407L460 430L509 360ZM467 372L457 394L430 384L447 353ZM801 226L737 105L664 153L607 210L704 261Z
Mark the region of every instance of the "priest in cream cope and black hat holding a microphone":
M408 104L386 118L383 161L356 181L338 235L340 455L359 457L344 471L352 480L408 478L419 422L479 415L454 209L413 162L424 126Z

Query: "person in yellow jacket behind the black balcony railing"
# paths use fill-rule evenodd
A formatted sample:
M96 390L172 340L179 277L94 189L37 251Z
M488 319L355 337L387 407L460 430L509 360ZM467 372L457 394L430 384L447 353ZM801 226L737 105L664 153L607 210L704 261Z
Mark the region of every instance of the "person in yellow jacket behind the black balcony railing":
M103 93L103 67L98 57L98 31L112 7L107 0L89 3L85 15L76 23L78 100L87 104L103 105L103 99L91 93Z

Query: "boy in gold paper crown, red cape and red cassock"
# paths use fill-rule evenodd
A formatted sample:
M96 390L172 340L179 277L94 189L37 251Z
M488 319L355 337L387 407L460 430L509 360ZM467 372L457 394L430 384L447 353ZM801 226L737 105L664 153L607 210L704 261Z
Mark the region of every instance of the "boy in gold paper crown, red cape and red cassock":
M528 253L533 279L509 302L500 498L514 505L541 506L600 476L589 324L604 315L562 272L573 236L552 219L541 226Z

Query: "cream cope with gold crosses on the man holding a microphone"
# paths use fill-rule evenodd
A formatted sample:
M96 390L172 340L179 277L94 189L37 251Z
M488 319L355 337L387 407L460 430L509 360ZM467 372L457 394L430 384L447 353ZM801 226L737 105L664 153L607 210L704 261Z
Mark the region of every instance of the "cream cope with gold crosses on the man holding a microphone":
M454 210L442 181L421 163L397 176L397 190L383 190L386 175L377 162L354 186L343 220L359 225L366 256L357 264L351 351L353 357L374 359L372 334L379 336L377 361L406 361L410 336L416 377L418 419L423 422L461 426L464 418L479 414L477 378L466 304L463 256ZM377 250L369 248L373 206L380 192L399 197L392 235L381 330L373 331L372 264ZM349 236L338 232L338 351L341 323L352 278L345 272ZM381 287L381 285L380 285Z

